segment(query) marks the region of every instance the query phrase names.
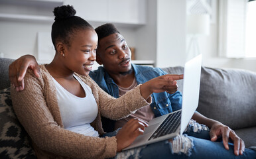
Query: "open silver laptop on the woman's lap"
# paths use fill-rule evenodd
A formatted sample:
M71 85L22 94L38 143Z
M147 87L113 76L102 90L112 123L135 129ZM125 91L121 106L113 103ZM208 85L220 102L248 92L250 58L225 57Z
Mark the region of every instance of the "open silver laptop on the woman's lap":
M182 109L149 121L149 127L145 128L143 135L138 136L123 150L173 138L184 132L198 107L201 64L202 54L199 54L184 66Z

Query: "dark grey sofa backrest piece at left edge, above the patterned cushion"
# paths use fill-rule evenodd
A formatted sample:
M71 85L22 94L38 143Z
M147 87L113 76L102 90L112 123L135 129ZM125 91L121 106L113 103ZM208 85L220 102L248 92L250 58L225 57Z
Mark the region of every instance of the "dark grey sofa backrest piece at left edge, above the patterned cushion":
M9 65L13 62L10 58L0 58L0 90L10 87L10 80L8 76Z

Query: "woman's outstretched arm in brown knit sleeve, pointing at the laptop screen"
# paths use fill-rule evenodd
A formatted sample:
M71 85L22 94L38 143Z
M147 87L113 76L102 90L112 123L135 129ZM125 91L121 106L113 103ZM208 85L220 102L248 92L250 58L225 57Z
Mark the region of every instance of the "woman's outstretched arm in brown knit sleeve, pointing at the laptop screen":
M183 75L160 76L142 85L137 85L135 89L128 91L117 99L105 93L92 79L84 78L84 82L91 87L96 102L99 105L101 116L117 120L127 117L145 105L149 105L151 103L151 93L165 91L164 87L166 85L176 85L172 81L182 78Z

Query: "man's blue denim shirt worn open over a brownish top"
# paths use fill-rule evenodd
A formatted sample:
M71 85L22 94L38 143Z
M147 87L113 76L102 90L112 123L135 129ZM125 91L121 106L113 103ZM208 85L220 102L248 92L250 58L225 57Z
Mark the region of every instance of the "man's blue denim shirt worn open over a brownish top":
M164 74L167 74L160 68L152 68L149 66L139 66L132 64L133 70L135 72L135 78L137 84L145 83L150 79L157 78ZM118 85L113 81L113 79L107 74L105 68L100 66L97 70L90 72L90 77L96 81L96 83L101 87L105 92L109 93L115 98L119 97ZM152 95L151 109L155 114L155 117L171 113L181 109L182 104L182 94L180 91L176 93L169 94L166 92L162 93L153 93ZM106 123L103 123L103 129ZM104 129L104 131L106 131Z

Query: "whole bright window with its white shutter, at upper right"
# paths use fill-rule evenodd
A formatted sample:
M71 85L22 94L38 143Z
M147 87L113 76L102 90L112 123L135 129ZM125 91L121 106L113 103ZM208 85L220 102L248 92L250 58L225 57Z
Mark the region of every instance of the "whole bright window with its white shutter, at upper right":
M256 58L256 0L225 0L219 3L220 56Z

